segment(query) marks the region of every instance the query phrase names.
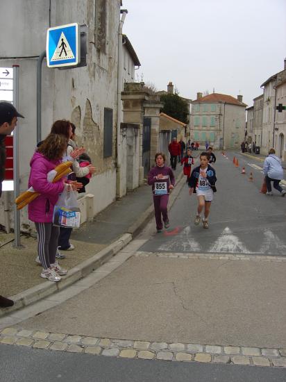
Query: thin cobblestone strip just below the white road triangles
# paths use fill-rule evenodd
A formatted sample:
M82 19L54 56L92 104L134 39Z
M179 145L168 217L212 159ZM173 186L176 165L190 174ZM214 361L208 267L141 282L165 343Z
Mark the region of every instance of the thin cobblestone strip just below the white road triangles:
M241 254L187 254L185 252L143 252L137 251L134 254L135 257L159 257L159 258L180 258L180 259L199 259L199 260L259 260L274 262L274 263L284 263L286 262L286 257L284 256L262 256L262 255L241 255Z

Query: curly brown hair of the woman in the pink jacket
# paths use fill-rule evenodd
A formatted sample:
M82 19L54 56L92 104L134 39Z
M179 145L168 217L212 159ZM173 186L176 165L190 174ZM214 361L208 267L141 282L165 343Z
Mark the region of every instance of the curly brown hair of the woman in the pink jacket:
M42 153L49 160L61 159L67 149L67 141L65 135L50 133L37 149L37 152Z

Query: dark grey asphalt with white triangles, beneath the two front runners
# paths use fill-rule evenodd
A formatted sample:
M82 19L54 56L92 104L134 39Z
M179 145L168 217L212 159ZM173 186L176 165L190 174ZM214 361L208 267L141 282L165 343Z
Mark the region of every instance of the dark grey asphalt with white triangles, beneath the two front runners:
M273 197L261 194L262 163L236 156L239 168L232 163L233 155L228 159L217 155L218 191L209 230L194 226L196 196L190 197L185 185L171 210L169 232L155 235L140 250L286 256L286 198L276 190ZM254 181L249 181L250 172Z

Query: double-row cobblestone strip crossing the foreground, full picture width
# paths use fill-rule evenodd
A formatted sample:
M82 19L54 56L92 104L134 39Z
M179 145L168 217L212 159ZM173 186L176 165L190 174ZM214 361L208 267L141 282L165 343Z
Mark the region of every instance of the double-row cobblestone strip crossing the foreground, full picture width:
M286 367L286 349L149 342L6 328L0 344L119 358Z

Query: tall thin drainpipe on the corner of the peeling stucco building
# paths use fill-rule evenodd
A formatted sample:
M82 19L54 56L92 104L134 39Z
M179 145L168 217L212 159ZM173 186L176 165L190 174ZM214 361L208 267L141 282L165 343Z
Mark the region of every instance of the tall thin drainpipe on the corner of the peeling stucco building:
M116 136L116 148L117 148L117 186L120 185L120 122L121 122L121 91L122 91L122 58L123 58L123 49L122 49L122 28L124 24L125 17L128 13L128 10L121 9L120 13L122 14L121 20L119 22L118 30L118 64L117 64L117 136ZM119 189L117 187L117 194L119 196Z

